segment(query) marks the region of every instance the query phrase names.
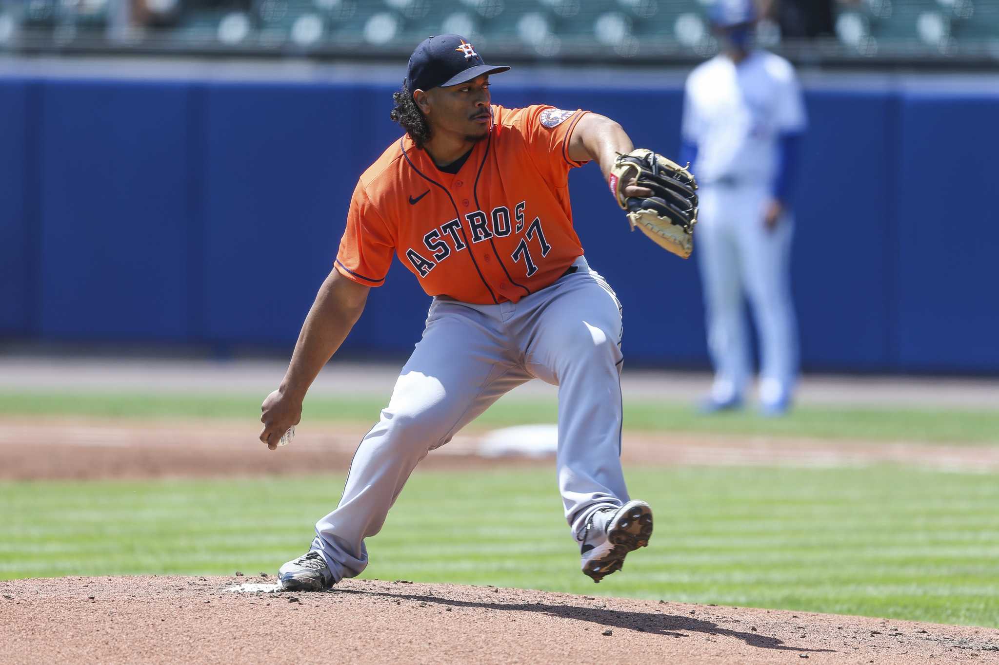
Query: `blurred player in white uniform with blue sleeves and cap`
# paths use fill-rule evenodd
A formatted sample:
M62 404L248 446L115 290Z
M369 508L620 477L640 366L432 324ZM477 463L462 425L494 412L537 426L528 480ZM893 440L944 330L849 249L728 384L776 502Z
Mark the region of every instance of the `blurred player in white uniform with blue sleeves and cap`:
M797 332L789 284L789 210L804 105L790 63L754 49L751 0L719 0L722 53L686 82L680 162L700 183L698 263L715 375L707 412L742 405L750 375L742 292L760 337L763 414L790 406Z

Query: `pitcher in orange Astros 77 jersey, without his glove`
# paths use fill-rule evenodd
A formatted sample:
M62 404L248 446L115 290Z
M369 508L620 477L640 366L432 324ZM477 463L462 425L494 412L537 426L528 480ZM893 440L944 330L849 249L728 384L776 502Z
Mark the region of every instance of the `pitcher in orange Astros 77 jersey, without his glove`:
M651 535L651 510L628 499L619 461L620 304L582 257L566 188L573 166L593 160L609 178L633 146L595 114L492 106L489 76L507 69L458 35L417 47L392 114L407 136L361 176L335 269L264 402L260 439L273 450L394 254L434 296L339 506L316 525L310 551L281 567L287 589L360 574L364 539L420 460L535 377L558 386L558 488L582 571L599 581ZM622 190L651 193L627 181Z

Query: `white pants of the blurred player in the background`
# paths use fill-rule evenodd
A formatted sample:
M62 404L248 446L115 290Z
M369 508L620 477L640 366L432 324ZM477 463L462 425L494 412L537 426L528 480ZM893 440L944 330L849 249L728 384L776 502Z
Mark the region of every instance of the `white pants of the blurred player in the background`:
M793 220L785 215L773 230L763 226L769 193L762 186L713 184L698 194L696 253L715 369L711 398L741 399L750 378L745 293L760 340L759 399L777 404L790 398L798 372L789 275Z

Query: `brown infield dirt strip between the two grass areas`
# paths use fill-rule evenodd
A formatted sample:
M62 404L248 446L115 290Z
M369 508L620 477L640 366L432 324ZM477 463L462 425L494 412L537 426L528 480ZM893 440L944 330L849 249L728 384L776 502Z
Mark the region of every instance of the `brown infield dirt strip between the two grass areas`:
M322 427L269 451L247 422L0 418L0 480L136 479L294 475L347 471L366 429ZM433 451L421 469L468 470L497 464L552 465L550 459L484 458L484 430L467 428ZM30 442L30 445L26 445ZM801 440L733 435L624 432L629 465L857 467L900 464L927 469L999 471L999 447Z

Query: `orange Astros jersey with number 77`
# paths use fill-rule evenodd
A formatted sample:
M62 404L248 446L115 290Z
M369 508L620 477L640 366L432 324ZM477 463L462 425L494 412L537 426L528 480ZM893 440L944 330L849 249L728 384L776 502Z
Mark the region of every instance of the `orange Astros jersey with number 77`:
M430 295L516 302L582 255L572 228L568 139L585 111L492 107L488 139L456 174L403 137L354 190L336 267L381 286L396 254Z

